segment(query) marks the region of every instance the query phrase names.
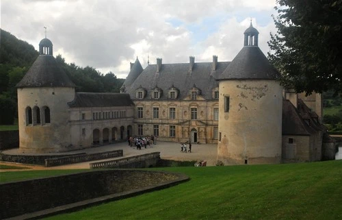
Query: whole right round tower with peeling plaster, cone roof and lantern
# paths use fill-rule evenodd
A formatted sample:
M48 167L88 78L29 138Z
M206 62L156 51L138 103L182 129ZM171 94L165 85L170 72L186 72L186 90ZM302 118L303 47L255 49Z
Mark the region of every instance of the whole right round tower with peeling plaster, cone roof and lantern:
M268 164L281 160L282 88L258 47L252 23L244 47L220 75L218 160Z

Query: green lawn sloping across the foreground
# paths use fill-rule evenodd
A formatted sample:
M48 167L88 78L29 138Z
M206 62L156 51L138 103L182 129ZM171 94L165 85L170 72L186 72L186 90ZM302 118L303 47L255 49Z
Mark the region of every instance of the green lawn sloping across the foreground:
M191 180L49 219L342 219L342 160L162 170Z

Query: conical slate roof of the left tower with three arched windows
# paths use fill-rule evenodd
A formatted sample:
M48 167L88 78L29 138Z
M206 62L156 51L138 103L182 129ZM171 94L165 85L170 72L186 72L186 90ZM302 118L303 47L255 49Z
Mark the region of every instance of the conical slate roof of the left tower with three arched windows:
M16 87L75 87L75 84L53 56L40 55Z

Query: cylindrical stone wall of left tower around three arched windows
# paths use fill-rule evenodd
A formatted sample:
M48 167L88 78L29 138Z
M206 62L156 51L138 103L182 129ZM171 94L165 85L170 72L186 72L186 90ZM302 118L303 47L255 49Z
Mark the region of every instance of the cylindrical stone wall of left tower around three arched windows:
M25 153L48 153L67 151L71 144L68 126L68 102L73 101L75 88L39 87L18 88L18 125L20 151ZM40 108L41 123L27 124L26 108ZM42 123L43 107L50 109L51 123Z

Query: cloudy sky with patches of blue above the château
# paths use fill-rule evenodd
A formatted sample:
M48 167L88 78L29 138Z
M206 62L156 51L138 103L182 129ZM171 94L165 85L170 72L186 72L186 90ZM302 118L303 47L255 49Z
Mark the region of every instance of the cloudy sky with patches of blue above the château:
M53 55L119 78L138 57L143 68L163 63L231 61L243 47L250 20L259 47L269 51L276 0L1 0L1 29L38 50L44 38Z

